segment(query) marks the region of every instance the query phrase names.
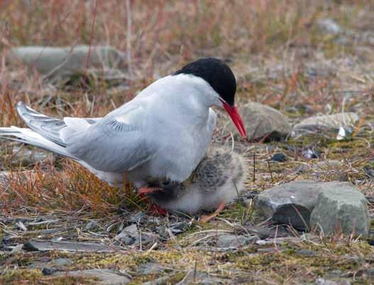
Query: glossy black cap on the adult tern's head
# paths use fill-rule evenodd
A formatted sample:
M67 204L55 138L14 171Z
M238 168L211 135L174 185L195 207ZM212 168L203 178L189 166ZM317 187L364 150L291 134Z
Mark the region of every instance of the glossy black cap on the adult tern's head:
M185 65L177 74L192 74L208 82L211 88L230 106L234 104L236 79L230 67L214 57L202 58Z

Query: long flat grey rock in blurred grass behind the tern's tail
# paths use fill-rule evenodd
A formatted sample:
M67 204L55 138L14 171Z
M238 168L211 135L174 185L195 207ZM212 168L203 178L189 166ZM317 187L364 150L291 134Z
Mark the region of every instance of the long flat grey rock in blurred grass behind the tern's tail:
M87 57L89 60L87 62ZM6 59L10 63L23 62L35 67L41 74L51 76L82 74L86 69L97 70L100 75L116 73L126 66L123 52L110 46L77 45L72 47L25 46L14 47ZM114 75L112 74L112 75Z

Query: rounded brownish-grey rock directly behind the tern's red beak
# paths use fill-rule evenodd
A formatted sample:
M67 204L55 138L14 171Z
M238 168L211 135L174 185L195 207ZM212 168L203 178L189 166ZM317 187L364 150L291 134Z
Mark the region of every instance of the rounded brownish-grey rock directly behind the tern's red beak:
M239 113L246 126L247 138L249 140L264 137L268 140L278 140L285 138L291 132L288 118L275 108L250 102L239 106ZM224 123L220 121L219 123L222 126L226 125L226 128L224 128L226 133L238 133L231 122L227 122L226 120Z

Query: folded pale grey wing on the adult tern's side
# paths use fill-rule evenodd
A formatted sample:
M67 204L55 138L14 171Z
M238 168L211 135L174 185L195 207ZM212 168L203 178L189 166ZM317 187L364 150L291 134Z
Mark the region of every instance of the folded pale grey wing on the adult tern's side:
M150 160L155 147L141 124L141 106L109 113L83 133L66 140L67 150L97 170L125 172Z

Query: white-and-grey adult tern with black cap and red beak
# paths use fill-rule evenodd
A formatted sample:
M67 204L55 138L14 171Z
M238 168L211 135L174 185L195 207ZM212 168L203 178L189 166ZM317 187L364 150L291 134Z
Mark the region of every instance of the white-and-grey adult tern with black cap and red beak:
M138 189L150 177L182 182L207 152L216 124L211 107L224 108L246 137L235 93L230 67L202 58L153 82L103 118L51 118L19 102L18 114L28 128L0 128L0 138L69 157L109 184L122 184L123 175Z

